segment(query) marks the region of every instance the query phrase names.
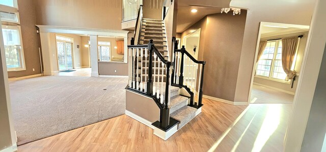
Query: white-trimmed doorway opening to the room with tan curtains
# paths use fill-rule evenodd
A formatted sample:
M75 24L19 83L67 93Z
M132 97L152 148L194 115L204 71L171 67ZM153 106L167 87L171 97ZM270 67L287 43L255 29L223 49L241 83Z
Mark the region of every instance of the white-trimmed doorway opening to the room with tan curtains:
M306 25L261 22L249 104L292 104L308 31Z

